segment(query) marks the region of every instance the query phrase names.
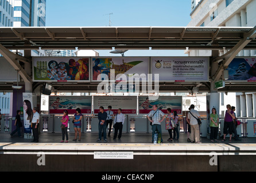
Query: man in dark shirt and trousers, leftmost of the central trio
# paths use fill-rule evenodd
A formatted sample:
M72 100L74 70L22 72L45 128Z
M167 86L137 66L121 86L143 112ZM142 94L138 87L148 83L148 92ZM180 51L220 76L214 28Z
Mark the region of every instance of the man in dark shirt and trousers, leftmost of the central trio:
M107 129L107 113L104 112L104 108L103 106L99 107L99 113L98 113L98 119L99 119L99 138L97 140L97 142L101 142L102 141L102 130L103 130L103 137L104 137L104 142L107 142L107 133L106 133L106 129Z

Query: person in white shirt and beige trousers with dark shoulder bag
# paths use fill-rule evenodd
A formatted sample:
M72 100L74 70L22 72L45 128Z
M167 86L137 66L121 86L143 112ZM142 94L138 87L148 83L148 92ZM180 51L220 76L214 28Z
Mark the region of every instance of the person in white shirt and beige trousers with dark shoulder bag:
M199 112L195 110L195 105L190 106L190 112L188 113L187 120L188 124L191 126L191 142L201 143L200 142L200 129L199 124L196 118L200 118ZM192 114L191 114L192 113Z

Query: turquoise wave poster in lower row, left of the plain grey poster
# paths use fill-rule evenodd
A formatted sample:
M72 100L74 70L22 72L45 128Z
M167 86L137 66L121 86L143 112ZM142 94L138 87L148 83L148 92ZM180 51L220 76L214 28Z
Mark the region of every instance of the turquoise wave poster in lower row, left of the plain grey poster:
M91 102L89 96L49 96L49 113L63 114L67 109L68 114L75 114L80 108L82 114L91 114Z

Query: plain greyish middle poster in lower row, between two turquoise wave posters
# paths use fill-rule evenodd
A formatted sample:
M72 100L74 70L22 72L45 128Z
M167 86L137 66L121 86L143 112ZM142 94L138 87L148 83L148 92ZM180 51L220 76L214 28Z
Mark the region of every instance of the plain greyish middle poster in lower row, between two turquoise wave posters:
M99 107L103 106L107 111L108 106L112 106L112 111L117 114L119 108L123 114L137 114L137 97L131 96L94 96L94 114L99 113Z

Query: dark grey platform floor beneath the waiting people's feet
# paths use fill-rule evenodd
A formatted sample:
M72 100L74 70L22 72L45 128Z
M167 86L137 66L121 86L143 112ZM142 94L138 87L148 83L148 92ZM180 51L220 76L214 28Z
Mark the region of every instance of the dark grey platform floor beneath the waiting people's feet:
M151 143L152 142L152 134L151 133L123 133L122 138L119 140L118 138L116 140L113 140L114 133L111 133L110 137L107 137L108 142L107 143ZM163 133L162 138L164 140L164 144L180 144L180 143L188 143L187 141L187 133L180 133L179 140L173 140L173 141L167 141L169 138L168 133ZM98 139L98 133L95 132L86 132L82 133L81 141L72 141L75 138L75 133L68 133L69 143L96 143L96 140ZM59 143L61 141L62 135L61 133L48 133L48 132L41 132L39 135L39 143ZM78 138L78 137L77 137ZM17 133L14 135L14 137L10 137L9 132L1 132L0 133L0 142L31 142L31 139L25 139L23 137L18 137ZM202 143L212 143L212 144L218 144L218 143L224 143L224 144L241 144L241 143L256 143L256 138L239 138L239 141L235 141L232 139L232 142L228 142L228 138L225 142L222 142L219 140L219 142L211 142L206 137L201 137ZM102 137L102 143L103 143L103 137Z

